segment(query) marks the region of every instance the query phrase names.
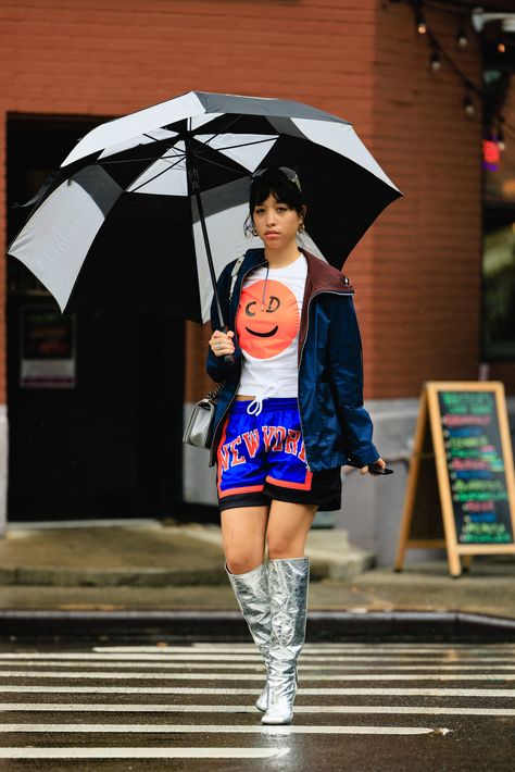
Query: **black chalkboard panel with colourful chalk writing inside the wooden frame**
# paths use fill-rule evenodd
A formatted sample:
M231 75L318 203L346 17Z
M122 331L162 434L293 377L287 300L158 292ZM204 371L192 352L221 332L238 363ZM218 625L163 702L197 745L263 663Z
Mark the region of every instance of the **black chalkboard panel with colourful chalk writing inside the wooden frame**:
M457 543L513 543L495 394L439 391L438 403Z

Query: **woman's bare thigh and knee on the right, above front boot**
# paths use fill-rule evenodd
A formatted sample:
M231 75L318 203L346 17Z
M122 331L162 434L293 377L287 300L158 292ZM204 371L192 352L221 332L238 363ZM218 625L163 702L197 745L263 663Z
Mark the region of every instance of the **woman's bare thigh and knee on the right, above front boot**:
M272 501L268 518L268 558L302 558L317 505Z

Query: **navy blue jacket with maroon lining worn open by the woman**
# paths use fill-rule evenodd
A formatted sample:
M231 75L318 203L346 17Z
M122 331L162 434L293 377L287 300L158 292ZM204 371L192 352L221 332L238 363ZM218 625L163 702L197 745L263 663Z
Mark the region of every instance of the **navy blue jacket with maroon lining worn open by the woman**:
M312 472L349 464L364 466L377 461L372 443L373 424L363 407L363 365L360 329L352 296L354 290L337 269L301 250L307 261L307 276L299 331L299 413L307 464ZM224 320L235 331L234 362L224 362L211 348L208 374L224 383L215 411L215 429L210 466L227 411L236 396L241 374L241 349L236 334L236 312L241 285L250 271L266 265L264 249L249 249L238 272L229 304L230 272L222 272L218 292ZM219 328L214 301L211 324Z

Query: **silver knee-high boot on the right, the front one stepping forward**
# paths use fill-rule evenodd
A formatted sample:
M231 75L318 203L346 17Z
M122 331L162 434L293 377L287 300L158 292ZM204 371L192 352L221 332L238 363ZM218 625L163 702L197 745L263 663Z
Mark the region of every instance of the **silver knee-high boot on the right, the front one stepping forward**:
M305 639L309 558L268 561L271 645L264 724L289 724L297 693L297 660Z

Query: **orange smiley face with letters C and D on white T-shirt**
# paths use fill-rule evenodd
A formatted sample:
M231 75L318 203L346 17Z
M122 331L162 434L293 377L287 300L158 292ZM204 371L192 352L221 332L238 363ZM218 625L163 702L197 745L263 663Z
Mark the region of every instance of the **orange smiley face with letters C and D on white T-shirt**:
M263 292L265 298L263 301ZM281 282L254 282L240 297L236 331L243 351L269 359L288 348L300 327L297 298Z

